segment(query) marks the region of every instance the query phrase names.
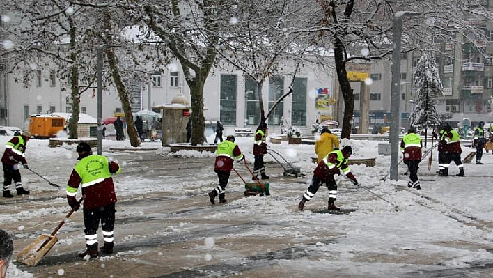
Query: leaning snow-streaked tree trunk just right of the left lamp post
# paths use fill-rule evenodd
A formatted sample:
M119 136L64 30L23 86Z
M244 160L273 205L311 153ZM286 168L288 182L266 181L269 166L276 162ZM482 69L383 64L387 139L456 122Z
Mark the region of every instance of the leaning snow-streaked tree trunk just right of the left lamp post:
M134 115L132 114L132 107L130 106L130 100L128 99L127 91L125 91L125 84L123 84L120 72L118 72L118 65L116 63L115 53L111 49L106 49L104 52L107 54L109 61L109 68L111 70L111 76L115 82L116 91L118 91L118 97L122 102L123 112L125 113L125 122L127 123L127 134L130 139L130 146L141 146L141 139L134 125Z

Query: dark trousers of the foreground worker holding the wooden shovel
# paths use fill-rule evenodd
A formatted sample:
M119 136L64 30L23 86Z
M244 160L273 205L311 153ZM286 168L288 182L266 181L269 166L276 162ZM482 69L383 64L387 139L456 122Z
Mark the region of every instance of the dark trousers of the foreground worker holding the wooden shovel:
M113 229L115 226L115 203L111 203L107 206L102 206L100 208L95 208L93 210L84 209L84 233L86 234L86 240L88 235L97 235L97 228L102 226L103 235L104 232L113 234ZM107 241L106 238L104 238ZM113 238L111 238L111 242Z

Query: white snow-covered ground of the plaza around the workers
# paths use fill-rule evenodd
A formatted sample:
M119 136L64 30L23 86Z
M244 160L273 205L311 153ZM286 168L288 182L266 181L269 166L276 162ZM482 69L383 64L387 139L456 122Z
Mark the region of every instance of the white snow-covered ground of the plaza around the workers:
M8 139L10 137L0 137L0 146L4 146ZM246 161L252 169L253 139L237 137L236 142L246 153ZM233 229L226 233L203 235L201 244L189 242L187 245L187 242L183 242L184 246L180 247L182 253L178 250L175 255L164 258L164 261L173 261L179 265L180 270L201 270L200 273L203 274L183 277L322 277L323 274L324 277L491 277L493 275L493 269L490 271L493 265L492 153L483 155L484 165L476 165L474 162L465 164L466 177L460 178L455 177L458 170L454 164L449 171L451 176L436 176L437 154L434 151L432 169L428 170L428 157L421 164L418 175L421 178L422 190L417 192L407 189L407 176L401 175L398 181L380 180L389 173L390 157L377 154L378 143L379 141L356 140L341 142L341 146L352 146L353 158L376 157L375 167L364 165L351 167L363 188L354 187L343 176L338 177L339 194L336 204L342 208L354 209L354 212L343 215L312 211L327 206L328 192L324 187L320 188L312 201L306 203L303 212L297 210L297 203L308 187L311 173L315 168L315 164L311 162L311 157L315 156L313 145L288 145L285 141L282 144L269 143L272 150L281 153L285 159L300 167L304 176L283 177L280 165L276 164L270 155L266 155L267 174L272 177L269 180L272 195L263 198L242 196L243 183L233 172L226 193L228 203L215 207L210 206L207 198L207 192L217 184L217 177L213 172L214 155L210 153L180 151L175 154L178 155L175 158L177 163L185 161L188 166L195 163L194 160L200 160L202 163L198 164L200 166L197 167L196 172L201 178L185 174L184 169L187 165L182 166L182 164L176 164L175 171L163 173L164 166L160 164L159 157L168 157L171 160L173 158L170 158L169 148L161 147L160 142L143 144L144 147L158 148L155 152L137 152L128 155L125 152L110 150L111 147L130 148L128 141L104 140L103 154L117 160L123 167L122 173L115 177L119 198L117 219L134 217L143 214L146 210L146 208L142 210L132 208L130 211L124 206L125 200L145 201L149 196L157 196L157 194L165 196L161 201L164 207L162 210L170 210L171 214L153 214L153 217L158 219L161 217L161 222L164 222L163 231L159 231L157 224L148 224L148 227L157 226L156 231L146 233L146 237L156 234L178 236L189 233L191 229L199 229L201 225L204 229L205 226L213 225L214 222L224 222L226 219L230 219L228 221L232 224L240 221L244 225L251 223L248 229ZM3 152L3 148L1 150ZM470 148L463 147L462 157L470 152ZM47 140L29 141L26 157L31 169L47 175L45 178L61 185L62 188L56 190L54 187L49 187L44 180L22 169L24 185L33 193L14 198L27 199L27 201L0 199L1 227L15 235L15 255L39 234L49 233L56 226L57 219L63 219L68 208L64 186L70 169L77 162L75 146L49 148ZM150 167L143 167L134 163L139 159L152 159L156 162L151 163ZM237 169L241 169L240 173L246 180L251 179L242 164L235 165ZM405 165L400 164L400 173L404 172ZM40 196L45 198L44 203L39 203L42 202L39 201ZM171 199L166 199L167 197ZM187 206L199 203L201 208L206 208L207 213L198 219L193 215L187 219L187 214L184 213L181 216L183 219L177 226L166 226L166 221L169 221L170 217L178 217L171 211L175 209L173 207L175 203L172 201L177 199L187 203ZM186 206L183 206L176 208L176 211L185 211ZM252 211L256 214L252 215ZM50 215L53 222L33 224L36 222L33 219L44 219ZM75 215L80 217L81 213L77 212ZM61 234L58 235L60 242L57 245L60 246L58 247L60 250L52 250L47 257L63 256L68 252L62 249L63 246L72 243L74 243L72 252L75 249L83 249L83 228L80 218L77 220L77 229L71 226L75 225L76 219L72 219L72 222L64 226ZM272 225L271 228L262 226L267 222ZM139 234L134 230L121 231L121 229L126 229L123 228L123 224L116 227L118 230L116 249L118 245L125 245L125 242L128 244L132 239L139 238ZM65 232L71 232L74 236L69 236ZM123 234L127 236L123 238ZM269 238L264 243L265 249L262 249L261 242L256 246L258 249L249 249L251 243L246 242L260 236ZM235 242L235 244L225 242ZM242 245L238 242L245 243ZM290 256L285 254L285 249L291 250ZM284 250L284 256L279 255L281 252L279 250ZM107 268L112 260L116 263L123 258L128 262L141 263L143 253L146 252L148 252L147 248L135 247L132 252L122 251L109 258L98 260L104 262L101 264L107 265ZM164 257L161 252L158 254ZM265 261L267 261L269 254L272 258L268 260L275 261L274 266L268 264L273 269L272 272L265 269L263 272L244 269L245 265L254 261L252 256L256 256L256 259L259 256L266 256ZM198 260L200 262L191 265L191 256L198 256L201 258ZM219 270L204 270L203 265L214 263L221 265L218 267ZM61 265L58 268L49 263L46 265L55 269L54 272L41 274L42 268L29 268L14 260L8 269L7 277L63 275L89 277L91 273L91 277L103 277L98 275L97 267L93 268L93 272L86 272L84 274L86 276L73 272L72 268L82 268L77 261L72 265ZM229 265L230 269L228 270L224 265ZM162 274L158 272L152 273L155 275L141 274L127 277L167 277L159 276ZM450 275L447 276L447 273Z

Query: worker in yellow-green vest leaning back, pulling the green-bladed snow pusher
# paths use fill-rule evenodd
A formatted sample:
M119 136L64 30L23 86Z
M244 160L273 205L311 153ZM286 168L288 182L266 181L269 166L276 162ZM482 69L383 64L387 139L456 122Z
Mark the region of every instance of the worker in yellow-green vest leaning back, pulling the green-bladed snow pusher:
M228 185L231 169L233 169L233 157L237 160L244 160L245 158L240 147L235 144L235 137L228 135L226 140L217 145L214 172L217 173L217 178L219 178L219 185L209 192L209 199L213 205L216 203L215 199L218 195L219 203L226 203L226 185Z

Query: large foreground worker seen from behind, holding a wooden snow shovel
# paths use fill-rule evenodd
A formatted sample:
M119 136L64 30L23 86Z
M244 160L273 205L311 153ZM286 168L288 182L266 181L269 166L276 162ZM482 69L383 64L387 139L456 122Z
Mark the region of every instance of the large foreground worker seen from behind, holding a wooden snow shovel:
M113 254L116 194L111 175L120 173L120 166L103 155L93 155L86 142L77 145L79 157L68 180L67 201L74 210L79 209L76 199L79 187L84 198L84 237L86 251L80 257L100 255L97 250L97 229L101 222L104 246L103 254Z

